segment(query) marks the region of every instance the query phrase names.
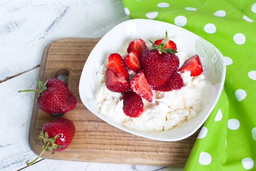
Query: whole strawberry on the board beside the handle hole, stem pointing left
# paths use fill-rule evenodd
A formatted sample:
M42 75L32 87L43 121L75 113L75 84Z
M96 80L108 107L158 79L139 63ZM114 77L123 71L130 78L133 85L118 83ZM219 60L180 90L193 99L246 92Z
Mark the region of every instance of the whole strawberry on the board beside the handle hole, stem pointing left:
M38 92L36 103L47 113L54 116L66 113L76 107L76 97L68 90L66 84L57 78L47 80L44 85L36 79L40 90L20 90L19 92Z

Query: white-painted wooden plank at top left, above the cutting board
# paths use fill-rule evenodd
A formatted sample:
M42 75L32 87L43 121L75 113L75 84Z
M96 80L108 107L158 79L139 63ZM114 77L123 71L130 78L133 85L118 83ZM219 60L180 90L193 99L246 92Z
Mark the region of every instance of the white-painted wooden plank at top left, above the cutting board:
M1 0L0 81L38 66L52 40L101 38L125 20L120 0Z

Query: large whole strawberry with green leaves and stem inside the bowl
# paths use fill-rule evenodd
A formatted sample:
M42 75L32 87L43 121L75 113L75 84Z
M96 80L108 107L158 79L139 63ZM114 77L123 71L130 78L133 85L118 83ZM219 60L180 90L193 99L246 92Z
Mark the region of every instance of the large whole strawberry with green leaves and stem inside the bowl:
M145 77L151 86L159 87L164 84L179 68L179 58L174 49L164 48L167 41L167 32L164 43L155 45L150 49L145 49L141 56L141 64Z

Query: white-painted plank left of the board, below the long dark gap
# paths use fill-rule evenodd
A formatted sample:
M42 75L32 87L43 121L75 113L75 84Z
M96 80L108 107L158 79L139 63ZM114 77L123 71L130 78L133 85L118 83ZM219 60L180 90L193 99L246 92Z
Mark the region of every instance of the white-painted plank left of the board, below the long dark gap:
M35 159L29 148L29 124L39 67L0 84L0 171L15 171ZM42 159L42 158L41 158Z

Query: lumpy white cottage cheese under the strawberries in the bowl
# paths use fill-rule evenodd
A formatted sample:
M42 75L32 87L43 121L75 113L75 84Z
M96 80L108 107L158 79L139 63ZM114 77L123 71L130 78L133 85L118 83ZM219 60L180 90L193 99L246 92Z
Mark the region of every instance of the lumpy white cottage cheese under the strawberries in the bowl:
M147 46L151 46L150 42L144 41ZM122 57L127 54L127 47L128 44L118 52ZM179 49L179 46L177 49L176 55L180 59L181 67L188 57L185 52ZM126 116L122 110L122 94L111 92L106 87L105 70L105 64L102 64L97 72L100 83L94 92L99 112L132 130L142 132L171 130L197 116L216 93L215 87L205 78L204 74L192 77L189 71L183 72L180 74L184 86L180 90L170 92L152 90L153 102L150 103L142 98L143 113L137 118L131 118ZM129 71L129 78L131 79L135 74L135 72Z

